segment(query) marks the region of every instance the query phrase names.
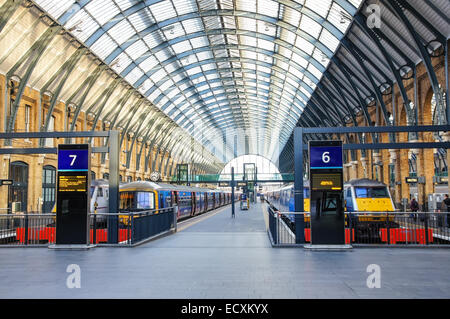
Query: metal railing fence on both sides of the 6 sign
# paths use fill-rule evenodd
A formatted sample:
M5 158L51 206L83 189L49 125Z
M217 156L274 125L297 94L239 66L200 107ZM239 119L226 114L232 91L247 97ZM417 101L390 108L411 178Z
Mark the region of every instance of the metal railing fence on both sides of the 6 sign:
M268 232L275 247L295 247L295 224L303 215L304 239L311 241L309 212L279 212L268 206ZM450 246L450 214L429 212L345 213L345 242L354 246ZM303 246L300 244L300 246Z

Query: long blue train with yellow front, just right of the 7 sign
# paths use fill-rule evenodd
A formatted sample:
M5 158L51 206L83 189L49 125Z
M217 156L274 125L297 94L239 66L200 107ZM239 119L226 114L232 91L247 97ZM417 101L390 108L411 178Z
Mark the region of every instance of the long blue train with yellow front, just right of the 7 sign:
M231 192L150 181L126 183L119 188L119 213L178 207L177 219L206 213L232 203ZM238 194L235 194L235 201ZM126 218L121 218L124 224Z

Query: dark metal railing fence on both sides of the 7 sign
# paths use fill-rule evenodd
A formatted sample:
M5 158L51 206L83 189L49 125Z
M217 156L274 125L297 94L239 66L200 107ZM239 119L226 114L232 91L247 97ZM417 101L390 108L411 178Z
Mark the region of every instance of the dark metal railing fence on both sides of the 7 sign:
M119 214L89 214L91 244L108 244L108 217L117 216L118 244L134 246L156 236L175 232L177 208ZM0 247L47 247L55 244L55 214L0 214Z

